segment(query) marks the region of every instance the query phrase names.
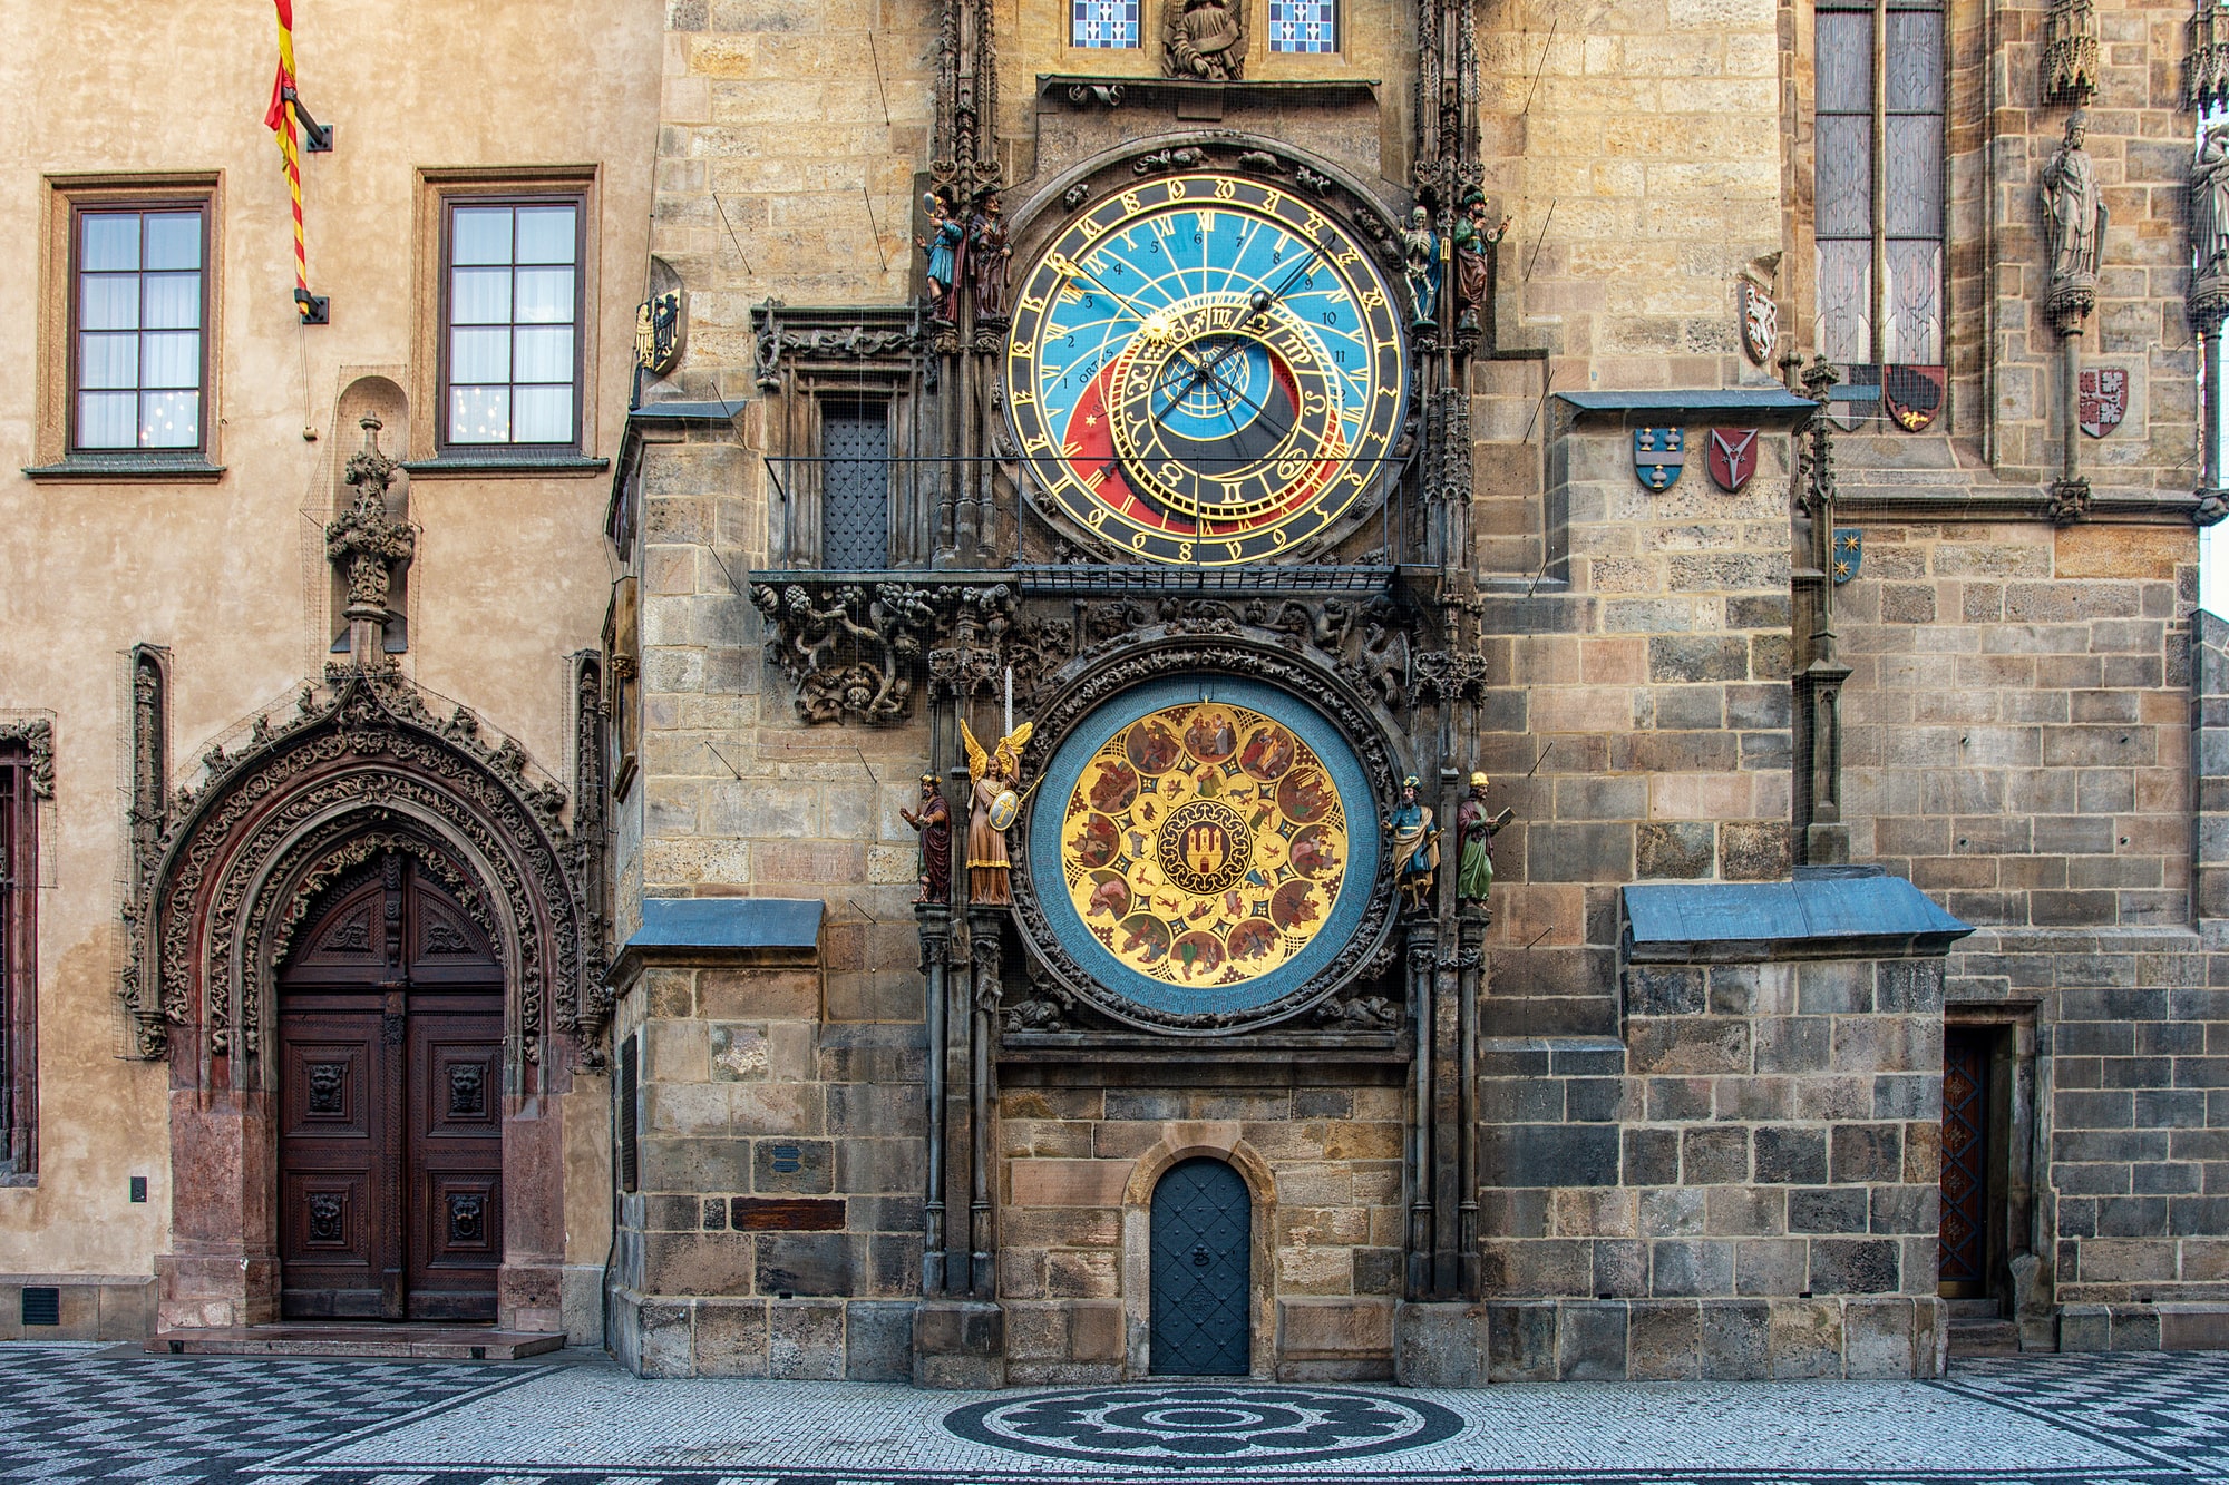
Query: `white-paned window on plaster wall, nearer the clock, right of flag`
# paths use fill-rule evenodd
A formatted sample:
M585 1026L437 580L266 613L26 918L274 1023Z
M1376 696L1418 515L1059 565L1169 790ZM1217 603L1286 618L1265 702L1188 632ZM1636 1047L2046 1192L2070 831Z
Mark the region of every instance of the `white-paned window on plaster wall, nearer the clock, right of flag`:
M441 439L580 446L582 198L444 201Z

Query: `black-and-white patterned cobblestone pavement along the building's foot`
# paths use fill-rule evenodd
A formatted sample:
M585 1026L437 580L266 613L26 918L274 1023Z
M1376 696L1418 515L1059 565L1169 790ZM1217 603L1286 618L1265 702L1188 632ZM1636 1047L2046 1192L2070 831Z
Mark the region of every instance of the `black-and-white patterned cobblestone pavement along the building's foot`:
M0 1345L0 1481L138 1485L2182 1485L2229 1478L2229 1353L1944 1382L644 1382L609 1360Z

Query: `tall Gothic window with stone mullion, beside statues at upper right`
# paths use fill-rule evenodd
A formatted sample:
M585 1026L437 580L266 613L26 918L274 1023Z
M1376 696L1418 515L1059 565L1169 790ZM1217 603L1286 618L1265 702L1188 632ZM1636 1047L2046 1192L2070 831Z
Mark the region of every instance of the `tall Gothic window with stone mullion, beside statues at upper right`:
M1819 0L1817 346L1828 361L1944 359L1944 11Z

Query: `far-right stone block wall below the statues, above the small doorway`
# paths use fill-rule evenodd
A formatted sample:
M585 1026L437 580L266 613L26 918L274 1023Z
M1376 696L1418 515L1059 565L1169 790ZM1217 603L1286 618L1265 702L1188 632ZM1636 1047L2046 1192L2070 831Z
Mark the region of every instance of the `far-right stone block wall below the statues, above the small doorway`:
M2189 526L1863 524L1850 856L1968 923L2187 925Z

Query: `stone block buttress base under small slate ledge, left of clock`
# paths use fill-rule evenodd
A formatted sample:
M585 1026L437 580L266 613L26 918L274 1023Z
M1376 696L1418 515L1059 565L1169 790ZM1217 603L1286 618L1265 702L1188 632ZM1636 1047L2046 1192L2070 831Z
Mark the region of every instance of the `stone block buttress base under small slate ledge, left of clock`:
M923 1039L818 965L651 968L613 1349L644 1376L903 1380L921 1289ZM615 1041L617 1046L617 1041Z

